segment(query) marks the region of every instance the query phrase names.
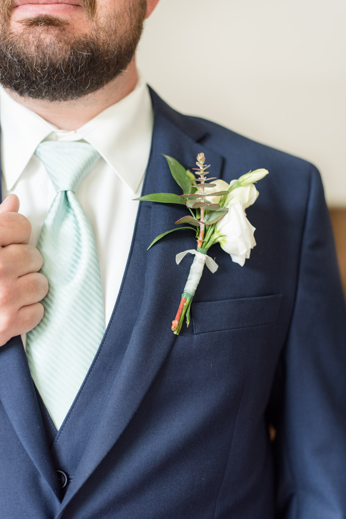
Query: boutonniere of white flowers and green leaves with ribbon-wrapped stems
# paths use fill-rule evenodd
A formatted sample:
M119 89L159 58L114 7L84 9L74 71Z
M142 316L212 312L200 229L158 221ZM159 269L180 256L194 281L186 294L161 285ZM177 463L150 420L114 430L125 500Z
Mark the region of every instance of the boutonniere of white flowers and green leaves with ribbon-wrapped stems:
M163 236L173 233L175 230L192 229L196 231L198 239L196 250L190 249L175 257L176 263L179 264L186 254L195 255L176 317L172 322L172 331L179 335L185 315L187 326L190 323L191 302L202 277L204 265L213 273L217 270L217 264L207 255L209 248L214 243L219 243L221 248L230 254L232 261L241 266L244 265L245 259L250 257L250 251L256 245L255 227L247 220L245 209L251 206L258 197L259 193L254 183L266 176L268 171L266 169L250 171L239 177L238 180L232 180L230 184L227 184L216 177L206 177L209 174L209 171L206 170L210 168L210 165L204 166L203 153L199 153L197 156L198 168L193 168L197 172L197 177L191 171L185 170L174 158L167 155L164 157L168 161L174 180L182 188L183 194L179 196L174 193L153 193L136 198L136 200L183 204L190 212L189 215L183 216L175 222L175 225L189 224L189 226L175 227L160 234L148 247L150 249ZM214 182L210 183L206 180Z

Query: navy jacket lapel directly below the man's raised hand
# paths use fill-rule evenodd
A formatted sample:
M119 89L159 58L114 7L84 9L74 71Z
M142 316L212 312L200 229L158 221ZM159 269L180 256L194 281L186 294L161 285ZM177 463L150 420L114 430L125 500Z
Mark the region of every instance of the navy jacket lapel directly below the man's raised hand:
M20 337L0 348L0 400L27 454L58 498L59 482Z

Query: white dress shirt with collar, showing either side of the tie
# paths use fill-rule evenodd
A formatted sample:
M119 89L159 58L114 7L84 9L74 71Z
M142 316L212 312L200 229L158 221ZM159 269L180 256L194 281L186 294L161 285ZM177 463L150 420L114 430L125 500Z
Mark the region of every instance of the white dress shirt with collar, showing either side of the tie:
M32 225L30 244L38 236L56 191L35 149L42 141L92 144L101 157L76 191L92 225L99 252L105 325L112 315L130 251L151 136L153 107L140 78L135 89L77 131L59 130L0 89L3 199L19 197ZM25 334L22 336L25 346Z

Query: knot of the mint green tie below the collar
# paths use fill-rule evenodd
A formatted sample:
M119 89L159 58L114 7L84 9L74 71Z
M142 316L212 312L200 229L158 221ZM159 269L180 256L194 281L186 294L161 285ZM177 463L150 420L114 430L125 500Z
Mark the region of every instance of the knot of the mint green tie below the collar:
M37 146L36 155L45 166L56 191L73 191L100 157L84 142L47 141Z

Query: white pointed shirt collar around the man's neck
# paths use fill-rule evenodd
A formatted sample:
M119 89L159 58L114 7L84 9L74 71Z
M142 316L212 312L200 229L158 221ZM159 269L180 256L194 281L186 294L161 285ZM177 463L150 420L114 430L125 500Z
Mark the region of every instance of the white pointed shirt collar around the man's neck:
M149 158L153 134L153 106L143 78L118 103L76 131L59 130L13 100L0 89L2 168L10 191L44 140L79 141L92 144L135 193Z

